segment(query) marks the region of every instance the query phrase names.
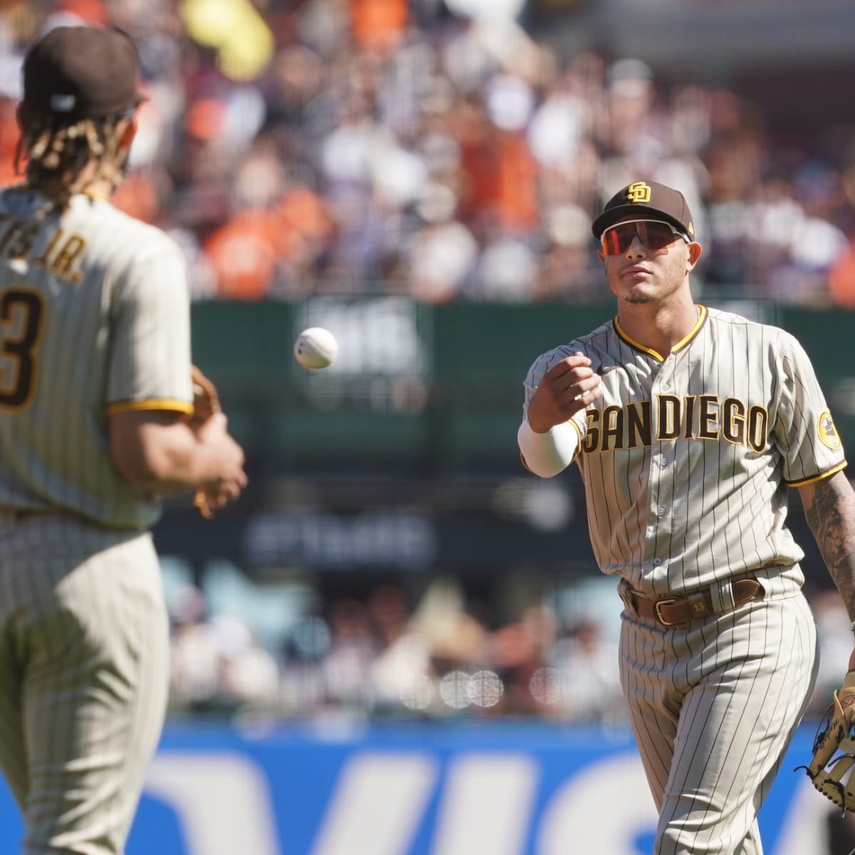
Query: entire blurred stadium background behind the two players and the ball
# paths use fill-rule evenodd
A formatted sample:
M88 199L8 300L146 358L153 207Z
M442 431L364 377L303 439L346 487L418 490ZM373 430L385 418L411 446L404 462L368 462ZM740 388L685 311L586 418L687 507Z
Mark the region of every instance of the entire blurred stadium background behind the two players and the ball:
M140 44L116 202L185 248L251 473L156 529L172 709L130 855L645 852L614 585L575 473L519 464L522 377L611 315L590 219L645 174L692 203L699 300L799 336L855 443L855 7L3 0L4 182L21 50L80 20ZM317 374L311 325L341 345ZM794 766L852 635L791 517L823 640ZM804 784L781 772L767 848L848 855ZM0 793L0 849L17 828Z

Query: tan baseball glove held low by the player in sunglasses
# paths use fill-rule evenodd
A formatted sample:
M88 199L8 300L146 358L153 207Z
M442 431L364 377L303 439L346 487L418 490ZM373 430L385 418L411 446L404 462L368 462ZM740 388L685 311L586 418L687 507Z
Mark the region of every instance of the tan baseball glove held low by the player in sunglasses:
M825 711L813 742L813 758L806 769L820 793L844 811L855 811L855 781L848 774L855 764L855 671L850 671L843 686Z

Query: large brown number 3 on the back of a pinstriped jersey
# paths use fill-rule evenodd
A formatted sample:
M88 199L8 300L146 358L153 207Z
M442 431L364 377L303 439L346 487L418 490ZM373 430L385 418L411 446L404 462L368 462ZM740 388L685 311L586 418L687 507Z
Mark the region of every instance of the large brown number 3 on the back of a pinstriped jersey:
M15 410L30 399L43 317L38 293L17 288L0 293L0 407Z

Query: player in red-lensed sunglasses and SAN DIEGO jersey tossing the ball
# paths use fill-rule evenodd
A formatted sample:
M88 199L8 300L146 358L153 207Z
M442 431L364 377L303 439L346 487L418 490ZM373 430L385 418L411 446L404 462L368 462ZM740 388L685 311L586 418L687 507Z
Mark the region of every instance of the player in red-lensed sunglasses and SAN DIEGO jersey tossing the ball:
M787 488L855 619L844 452L792 335L693 302L701 246L680 192L623 187L593 233L617 315L535 360L520 451L543 477L577 463L598 566L619 577L655 855L758 855L817 672Z

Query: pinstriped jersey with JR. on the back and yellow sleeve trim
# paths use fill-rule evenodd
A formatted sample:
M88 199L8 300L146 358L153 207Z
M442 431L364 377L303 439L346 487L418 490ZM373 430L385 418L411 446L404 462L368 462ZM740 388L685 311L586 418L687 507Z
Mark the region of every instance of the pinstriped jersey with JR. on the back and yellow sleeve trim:
M59 215L0 193L0 507L156 521L105 453L107 417L192 410L188 318L183 258L158 229L103 198Z

